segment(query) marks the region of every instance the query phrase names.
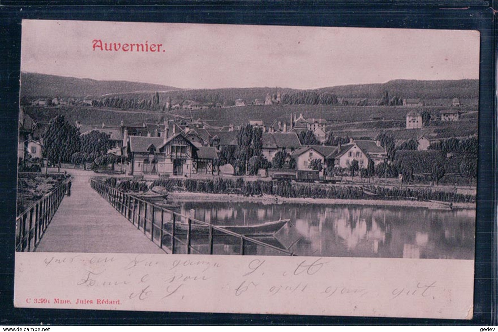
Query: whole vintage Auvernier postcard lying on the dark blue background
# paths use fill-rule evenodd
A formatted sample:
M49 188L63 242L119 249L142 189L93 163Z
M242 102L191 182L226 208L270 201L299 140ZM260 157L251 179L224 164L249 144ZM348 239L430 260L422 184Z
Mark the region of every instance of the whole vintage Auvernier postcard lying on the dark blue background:
M472 319L479 40L23 20L15 306Z

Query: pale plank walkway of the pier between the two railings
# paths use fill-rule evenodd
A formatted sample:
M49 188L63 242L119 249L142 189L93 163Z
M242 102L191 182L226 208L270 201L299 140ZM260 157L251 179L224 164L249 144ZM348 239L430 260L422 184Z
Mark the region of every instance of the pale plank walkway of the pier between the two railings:
M69 173L71 196L62 199L35 251L165 254L90 187L94 172Z

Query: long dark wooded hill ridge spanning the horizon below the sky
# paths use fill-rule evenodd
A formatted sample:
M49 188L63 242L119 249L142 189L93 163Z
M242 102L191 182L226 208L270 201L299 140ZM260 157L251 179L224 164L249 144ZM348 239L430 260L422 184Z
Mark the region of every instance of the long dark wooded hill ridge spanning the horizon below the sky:
M293 94L299 91L329 93L344 98L379 99L384 91L389 98L478 98L479 80L404 80L396 79L386 83L352 84L318 89L290 89L275 87L180 89L171 86L128 81L98 81L75 77L63 77L38 73L21 74L21 97L87 97L100 98L104 95L137 95L144 92L161 92L161 98L188 99L198 102L244 99L264 99L267 93ZM167 91L167 92L164 92Z

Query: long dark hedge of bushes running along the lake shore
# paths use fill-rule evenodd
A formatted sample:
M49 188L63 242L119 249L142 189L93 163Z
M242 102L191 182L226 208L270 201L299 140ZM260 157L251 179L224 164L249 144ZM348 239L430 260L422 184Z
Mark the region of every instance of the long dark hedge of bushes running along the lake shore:
M278 196L284 198L327 198L327 199L371 199L371 200L418 200L442 201L448 203L475 203L474 195L438 191L437 188L382 187L374 185L326 185L320 183L294 183L285 180L246 181L238 179L157 179L154 181L101 179L105 184L122 191L147 191L162 186L169 192L199 192L236 194L243 196Z

